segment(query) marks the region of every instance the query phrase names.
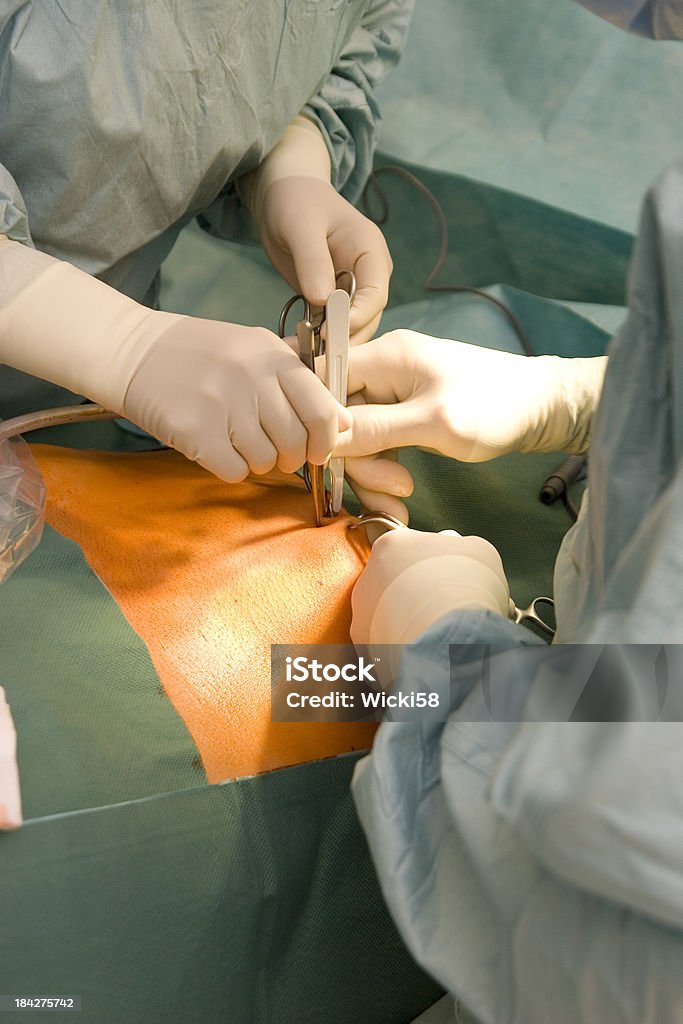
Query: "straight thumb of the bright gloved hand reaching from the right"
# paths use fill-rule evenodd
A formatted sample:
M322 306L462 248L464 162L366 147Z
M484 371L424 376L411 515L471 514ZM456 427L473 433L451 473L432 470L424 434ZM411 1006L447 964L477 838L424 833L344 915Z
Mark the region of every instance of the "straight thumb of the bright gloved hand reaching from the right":
M351 426L340 433L335 456L375 455L392 447L422 444L425 427L417 402L393 406L351 406Z

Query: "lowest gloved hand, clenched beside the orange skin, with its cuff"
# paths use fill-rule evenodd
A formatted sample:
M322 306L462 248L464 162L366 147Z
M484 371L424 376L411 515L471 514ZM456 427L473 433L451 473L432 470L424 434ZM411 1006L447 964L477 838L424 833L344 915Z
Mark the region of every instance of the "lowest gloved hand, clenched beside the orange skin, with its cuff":
M373 545L351 595L354 644L411 643L449 611L508 615L501 556L480 537L396 529Z

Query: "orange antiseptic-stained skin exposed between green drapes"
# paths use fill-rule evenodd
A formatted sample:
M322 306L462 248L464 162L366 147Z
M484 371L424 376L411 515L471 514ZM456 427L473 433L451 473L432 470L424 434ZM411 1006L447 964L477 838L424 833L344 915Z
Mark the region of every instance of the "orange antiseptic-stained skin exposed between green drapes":
M32 445L47 520L144 640L210 782L365 750L369 723L270 720L270 644L347 643L369 548L296 477L223 483L176 452Z

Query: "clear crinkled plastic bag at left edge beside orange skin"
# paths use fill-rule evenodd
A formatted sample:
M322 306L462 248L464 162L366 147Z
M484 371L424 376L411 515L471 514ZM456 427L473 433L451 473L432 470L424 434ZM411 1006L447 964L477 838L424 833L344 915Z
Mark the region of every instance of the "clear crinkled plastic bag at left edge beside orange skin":
M0 439L0 584L38 547L45 484L20 437Z

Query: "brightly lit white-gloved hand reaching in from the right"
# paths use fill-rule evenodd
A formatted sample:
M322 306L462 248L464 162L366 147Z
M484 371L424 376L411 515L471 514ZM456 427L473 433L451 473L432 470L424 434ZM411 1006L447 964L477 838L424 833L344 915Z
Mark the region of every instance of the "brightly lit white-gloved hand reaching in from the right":
M462 462L509 452L588 450L606 356L525 356L392 331L349 357L349 394L365 404L338 456L419 445ZM380 489L380 488L378 488Z

